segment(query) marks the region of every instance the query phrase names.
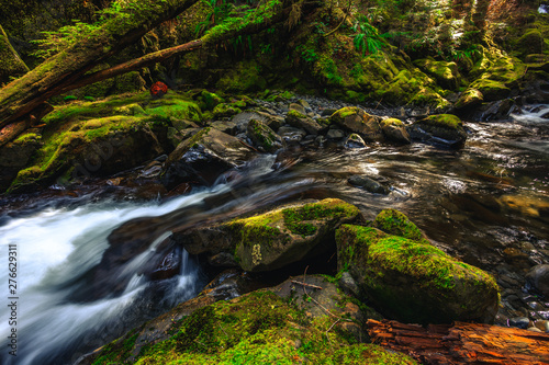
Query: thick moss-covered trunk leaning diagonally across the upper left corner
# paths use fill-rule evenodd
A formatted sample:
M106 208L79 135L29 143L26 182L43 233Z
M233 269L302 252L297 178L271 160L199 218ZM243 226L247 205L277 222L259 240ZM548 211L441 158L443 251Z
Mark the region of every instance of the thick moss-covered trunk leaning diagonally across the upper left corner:
M94 65L138 41L198 0L131 0L101 26L0 90L0 128L32 113Z

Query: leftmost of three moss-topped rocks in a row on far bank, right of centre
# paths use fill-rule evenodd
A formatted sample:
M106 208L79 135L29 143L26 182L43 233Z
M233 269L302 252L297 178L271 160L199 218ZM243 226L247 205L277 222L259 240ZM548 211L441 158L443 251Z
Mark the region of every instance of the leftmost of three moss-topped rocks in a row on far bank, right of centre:
M379 116L370 115L358 106L341 107L330 116L332 124L356 133L367 141L383 140L380 121Z

